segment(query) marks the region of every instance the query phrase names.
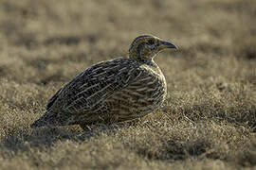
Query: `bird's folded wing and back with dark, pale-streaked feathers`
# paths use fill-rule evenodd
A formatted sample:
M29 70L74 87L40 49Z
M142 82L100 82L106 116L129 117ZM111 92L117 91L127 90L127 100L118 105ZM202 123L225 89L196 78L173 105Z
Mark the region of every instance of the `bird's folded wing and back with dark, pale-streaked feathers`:
M139 66L131 59L114 59L93 65L64 86L57 94L56 107L74 114L91 110L133 82L139 76ZM54 98L55 95L50 101L54 102Z

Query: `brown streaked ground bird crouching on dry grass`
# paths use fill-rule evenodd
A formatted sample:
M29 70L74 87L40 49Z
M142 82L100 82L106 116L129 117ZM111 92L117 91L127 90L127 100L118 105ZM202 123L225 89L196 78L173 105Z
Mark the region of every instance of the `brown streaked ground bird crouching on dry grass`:
M66 83L31 127L84 129L132 121L157 110L166 98L167 83L154 58L166 48L177 46L154 35L138 36L128 57L101 61Z

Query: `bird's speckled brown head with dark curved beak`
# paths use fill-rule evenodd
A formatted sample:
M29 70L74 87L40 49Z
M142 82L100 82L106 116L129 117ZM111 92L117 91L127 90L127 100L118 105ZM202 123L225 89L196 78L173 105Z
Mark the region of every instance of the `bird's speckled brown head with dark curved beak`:
M129 48L129 58L137 60L152 60L155 55L165 48L177 47L172 42L163 41L155 36L138 36Z

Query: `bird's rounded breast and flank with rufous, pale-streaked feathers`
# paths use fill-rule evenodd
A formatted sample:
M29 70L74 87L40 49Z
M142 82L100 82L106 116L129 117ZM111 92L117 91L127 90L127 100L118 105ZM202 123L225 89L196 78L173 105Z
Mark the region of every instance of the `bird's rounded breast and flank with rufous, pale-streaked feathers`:
M125 116L140 117L156 110L165 99L167 88L162 72L155 68L141 69L136 81L106 100L113 113L123 116L123 119Z

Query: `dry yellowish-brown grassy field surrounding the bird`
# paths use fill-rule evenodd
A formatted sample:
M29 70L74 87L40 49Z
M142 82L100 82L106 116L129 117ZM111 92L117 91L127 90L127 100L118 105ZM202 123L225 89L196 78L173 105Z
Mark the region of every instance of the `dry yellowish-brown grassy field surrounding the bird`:
M174 42L155 61L165 105L122 127L29 127L64 83L127 56L141 34ZM1 0L0 169L256 167L254 0Z

